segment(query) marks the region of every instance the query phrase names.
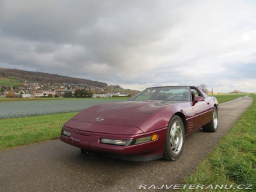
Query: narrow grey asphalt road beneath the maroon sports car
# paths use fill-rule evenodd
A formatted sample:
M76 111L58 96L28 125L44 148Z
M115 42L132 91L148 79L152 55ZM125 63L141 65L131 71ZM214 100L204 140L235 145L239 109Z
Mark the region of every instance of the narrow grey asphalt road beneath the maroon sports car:
M154 184L180 184L207 157L252 104L241 97L220 105L217 132L198 130L185 138L177 161L129 162L104 156L84 156L60 140L45 141L0 152L0 191L145 191Z

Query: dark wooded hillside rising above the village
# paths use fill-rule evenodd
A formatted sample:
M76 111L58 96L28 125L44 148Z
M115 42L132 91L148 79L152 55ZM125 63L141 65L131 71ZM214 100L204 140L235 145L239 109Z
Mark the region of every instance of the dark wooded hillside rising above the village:
M11 80L10 80L11 79ZM31 72L26 70L0 68L0 81L6 83L24 83L24 81L33 83L67 83L67 84L88 84L90 86L96 86L103 88L108 86L107 83L99 81L92 81L88 79L81 79L76 77L60 76L57 74L48 74L43 72ZM8 84L9 84L8 83Z

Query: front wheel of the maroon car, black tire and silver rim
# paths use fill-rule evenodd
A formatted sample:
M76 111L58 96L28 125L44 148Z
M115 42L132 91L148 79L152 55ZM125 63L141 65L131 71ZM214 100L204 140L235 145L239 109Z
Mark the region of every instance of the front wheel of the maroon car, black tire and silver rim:
M166 132L163 159L176 160L182 153L184 146L184 124L180 116L173 115Z

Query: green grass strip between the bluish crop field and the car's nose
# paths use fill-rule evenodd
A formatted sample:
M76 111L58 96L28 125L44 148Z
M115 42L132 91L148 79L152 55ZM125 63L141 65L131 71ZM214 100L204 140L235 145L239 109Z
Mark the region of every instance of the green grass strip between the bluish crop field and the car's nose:
M76 114L0 119L0 150L54 140L60 136L63 124Z

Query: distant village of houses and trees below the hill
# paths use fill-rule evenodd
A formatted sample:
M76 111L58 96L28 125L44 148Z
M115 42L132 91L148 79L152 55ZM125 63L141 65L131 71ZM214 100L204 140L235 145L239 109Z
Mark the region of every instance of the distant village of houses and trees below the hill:
M115 87L115 86L114 86ZM120 89L118 89L120 88ZM124 92L120 86L113 91L108 87L99 88L87 84L27 83L20 86L0 85L0 97L131 97L138 92Z

